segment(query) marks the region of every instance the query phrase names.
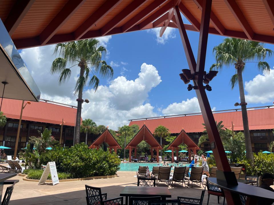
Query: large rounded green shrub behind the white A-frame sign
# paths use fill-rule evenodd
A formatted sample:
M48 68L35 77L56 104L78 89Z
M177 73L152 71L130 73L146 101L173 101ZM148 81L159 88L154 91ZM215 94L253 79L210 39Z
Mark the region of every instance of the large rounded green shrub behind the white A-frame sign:
M114 175L121 162L116 153L88 149L84 143L64 149L54 147L40 155L42 164L49 161L55 161L58 172L70 173L73 178Z

